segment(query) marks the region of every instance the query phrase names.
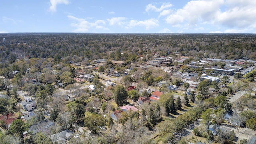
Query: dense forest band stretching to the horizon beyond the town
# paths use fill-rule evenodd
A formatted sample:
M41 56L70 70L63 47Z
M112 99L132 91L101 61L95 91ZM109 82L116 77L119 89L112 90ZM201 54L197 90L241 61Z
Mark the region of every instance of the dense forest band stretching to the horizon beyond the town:
M155 52L222 59L256 58L255 34L1 34L1 62L16 58L129 59L129 54L150 58ZM116 51L115 53L108 53ZM124 52L121 55L121 52Z

